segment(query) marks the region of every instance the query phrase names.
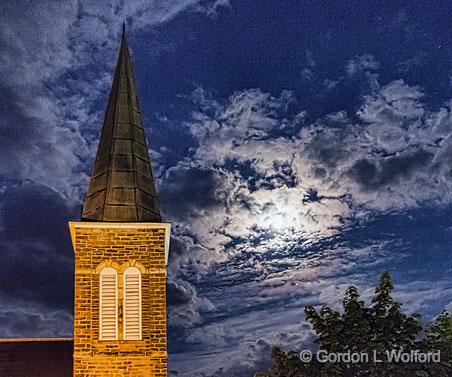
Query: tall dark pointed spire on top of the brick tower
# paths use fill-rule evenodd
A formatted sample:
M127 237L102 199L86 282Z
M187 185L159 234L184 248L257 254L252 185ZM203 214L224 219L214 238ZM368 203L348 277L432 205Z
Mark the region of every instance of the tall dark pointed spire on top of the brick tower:
M125 24L82 220L161 221Z

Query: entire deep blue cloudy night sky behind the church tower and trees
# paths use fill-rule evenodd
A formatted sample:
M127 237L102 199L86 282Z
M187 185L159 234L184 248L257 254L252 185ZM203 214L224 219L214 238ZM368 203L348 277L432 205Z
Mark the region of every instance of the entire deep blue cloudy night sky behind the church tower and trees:
M452 3L0 4L0 337L72 336L73 250L123 20L162 215L172 376L248 377L303 308L452 309Z

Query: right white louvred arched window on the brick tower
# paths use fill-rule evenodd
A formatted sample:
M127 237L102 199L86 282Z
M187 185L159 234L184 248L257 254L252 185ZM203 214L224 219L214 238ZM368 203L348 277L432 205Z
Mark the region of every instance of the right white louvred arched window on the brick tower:
M124 339L141 339L141 273L136 267L124 271Z

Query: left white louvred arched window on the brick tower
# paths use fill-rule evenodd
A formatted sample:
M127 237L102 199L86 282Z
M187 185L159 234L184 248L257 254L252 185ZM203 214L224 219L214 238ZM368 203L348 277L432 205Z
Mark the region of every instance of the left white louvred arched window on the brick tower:
M118 274L106 267L100 272L100 340L118 339Z

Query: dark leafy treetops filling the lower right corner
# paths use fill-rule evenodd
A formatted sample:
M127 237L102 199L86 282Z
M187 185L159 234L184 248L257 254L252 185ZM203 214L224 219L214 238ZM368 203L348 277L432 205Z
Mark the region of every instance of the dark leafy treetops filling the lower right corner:
M357 288L350 286L345 292L342 313L328 306L323 306L319 312L313 306L305 308L306 318L316 332L316 342L321 350L364 353L371 356L369 362L319 363L314 359L303 363L295 352L285 353L274 348L272 367L266 373L256 374L256 377L452 376L452 316L447 313L440 315L427 328L428 341L416 341L422 330L420 316L404 314L401 304L392 297L393 289L391 276L385 272L368 307L360 299ZM372 357L374 351L379 359L384 360L386 351L428 352L438 349L447 355L446 363L375 363Z

